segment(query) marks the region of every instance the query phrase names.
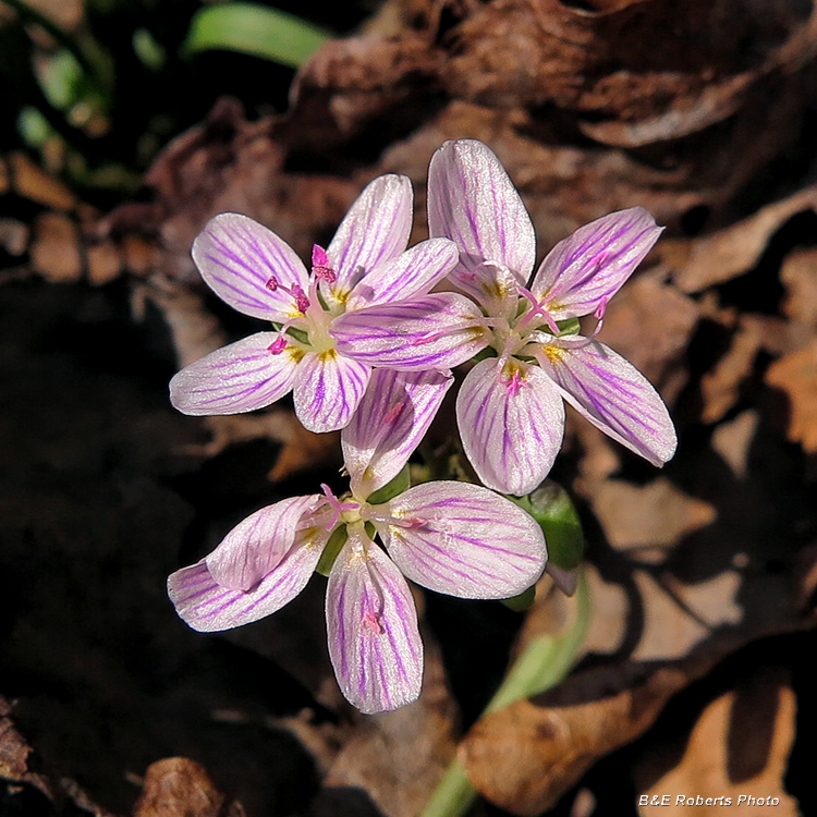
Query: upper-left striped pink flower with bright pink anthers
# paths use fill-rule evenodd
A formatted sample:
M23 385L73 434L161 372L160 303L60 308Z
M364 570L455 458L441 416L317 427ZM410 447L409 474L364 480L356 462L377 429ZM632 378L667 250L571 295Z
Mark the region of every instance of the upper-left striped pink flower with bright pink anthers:
M343 428L371 376L352 345L377 326L373 306L398 316L393 345L407 361L402 367L444 370L467 359L487 342L463 329L478 310L462 295L427 294L456 263L456 248L432 239L406 251L411 222L408 179L375 179L326 251L314 247L309 275L283 240L253 219L212 218L193 244L202 277L230 306L273 326L182 369L170 382L173 405L185 414L239 414L292 391L295 414L310 431Z

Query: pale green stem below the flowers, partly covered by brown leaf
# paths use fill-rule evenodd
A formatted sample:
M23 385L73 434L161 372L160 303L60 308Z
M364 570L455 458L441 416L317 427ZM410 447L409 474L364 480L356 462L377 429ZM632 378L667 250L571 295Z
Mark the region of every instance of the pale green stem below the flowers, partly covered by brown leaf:
M560 635L533 638L516 658L483 717L522 698L539 695L559 684L570 672L590 623L590 594L584 571L576 588L576 617ZM431 794L422 817L463 817L477 793L455 757Z

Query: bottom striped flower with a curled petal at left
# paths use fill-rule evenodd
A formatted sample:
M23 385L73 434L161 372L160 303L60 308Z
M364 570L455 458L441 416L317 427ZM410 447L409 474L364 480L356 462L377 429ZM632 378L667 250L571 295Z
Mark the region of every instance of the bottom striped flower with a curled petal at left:
M371 379L341 435L350 495L322 486L322 495L263 508L168 580L190 626L228 630L292 600L325 550L341 544L327 585L329 655L343 694L364 712L419 695L423 644L406 578L452 596L507 598L536 582L547 560L539 525L481 486L434 481L388 499L375 493L394 486L453 378L377 369Z

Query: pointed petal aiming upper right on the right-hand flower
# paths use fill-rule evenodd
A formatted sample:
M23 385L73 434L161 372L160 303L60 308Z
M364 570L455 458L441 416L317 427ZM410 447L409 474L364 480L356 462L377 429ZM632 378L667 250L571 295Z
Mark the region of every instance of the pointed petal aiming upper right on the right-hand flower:
M621 289L662 232L643 207L596 219L548 253L531 291L556 320L590 315Z

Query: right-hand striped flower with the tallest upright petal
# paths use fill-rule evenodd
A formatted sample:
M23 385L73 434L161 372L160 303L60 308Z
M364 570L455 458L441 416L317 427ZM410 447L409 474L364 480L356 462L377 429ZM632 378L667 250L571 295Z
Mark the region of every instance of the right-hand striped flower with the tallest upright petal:
M576 230L547 255L528 288L536 236L527 210L493 153L462 139L431 159L428 223L432 236L456 244L449 280L480 305L481 324L490 327L496 356L471 369L456 401L463 449L485 485L524 495L541 483L562 442L562 399L654 465L672 456L675 430L663 401L595 340L609 300L662 231L645 209ZM586 316L598 325L583 337L576 319Z

